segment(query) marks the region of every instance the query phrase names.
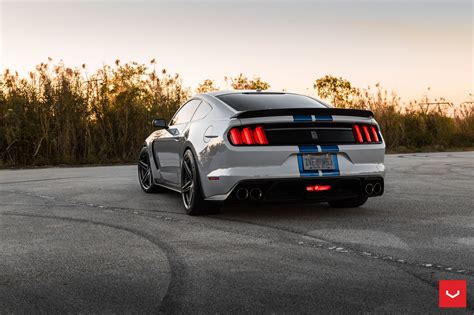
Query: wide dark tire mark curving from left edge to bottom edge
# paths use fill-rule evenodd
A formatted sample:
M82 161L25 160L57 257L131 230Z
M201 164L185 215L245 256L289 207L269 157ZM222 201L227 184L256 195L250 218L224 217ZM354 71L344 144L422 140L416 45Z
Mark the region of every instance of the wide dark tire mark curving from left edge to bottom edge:
M140 230L132 229L126 226L111 224L106 222L99 222L95 220L88 219L78 219L62 216L53 216L53 215L38 215L38 214L27 214L27 213L15 213L15 212L1 212L0 215L6 216L19 216L19 217L33 217L33 218L42 218L42 219L54 219L54 220L63 220L74 223L85 223L105 226L128 233L132 233L140 238L146 239L153 245L157 246L160 250L165 253L166 259L168 260L168 265L170 268L170 281L168 284L168 289L161 300L160 306L157 311L160 313L170 313L170 311L175 312L176 310L183 309L181 301L178 297L183 296L185 291L185 279L188 277L188 270L186 263L179 257L175 249L168 245L166 242L160 240L154 235L144 233Z

